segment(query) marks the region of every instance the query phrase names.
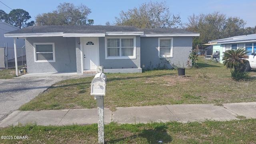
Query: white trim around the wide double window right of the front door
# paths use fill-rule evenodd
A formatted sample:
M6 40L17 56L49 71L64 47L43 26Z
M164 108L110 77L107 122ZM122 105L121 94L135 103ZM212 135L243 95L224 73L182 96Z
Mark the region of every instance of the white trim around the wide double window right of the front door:
M108 39L114 38L133 38L133 56L122 56L122 48L120 47L120 56L108 56ZM120 40L121 46L121 40ZM116 59L136 59L136 36L107 36L105 37L105 58L106 60L116 60Z

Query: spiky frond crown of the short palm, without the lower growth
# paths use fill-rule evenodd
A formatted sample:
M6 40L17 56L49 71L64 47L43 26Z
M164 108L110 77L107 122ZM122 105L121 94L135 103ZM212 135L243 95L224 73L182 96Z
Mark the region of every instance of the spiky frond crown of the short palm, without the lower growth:
M249 58L249 56L246 55L247 53L248 52L243 48L223 52L224 56L222 60L224 60L224 66L230 70L234 68L234 70L244 71L246 63L248 62L247 58Z

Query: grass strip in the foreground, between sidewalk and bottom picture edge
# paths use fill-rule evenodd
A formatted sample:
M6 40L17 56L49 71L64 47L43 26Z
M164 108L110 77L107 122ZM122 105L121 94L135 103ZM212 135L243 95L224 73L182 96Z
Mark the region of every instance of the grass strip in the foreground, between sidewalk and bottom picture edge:
M108 144L254 144L256 119L225 122L166 122L148 124L105 125L105 142ZM0 129L1 136L13 136L0 140L2 144L97 144L97 124L89 126L10 126ZM28 136L14 139L14 136Z

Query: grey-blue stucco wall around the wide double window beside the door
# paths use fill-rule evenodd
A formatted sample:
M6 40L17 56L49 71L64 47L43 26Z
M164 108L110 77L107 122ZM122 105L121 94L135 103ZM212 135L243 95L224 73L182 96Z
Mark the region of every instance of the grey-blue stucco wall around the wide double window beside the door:
M136 36L136 59L115 59L106 60L105 58L105 38L99 38L100 66L105 69L110 68L140 68L140 36Z

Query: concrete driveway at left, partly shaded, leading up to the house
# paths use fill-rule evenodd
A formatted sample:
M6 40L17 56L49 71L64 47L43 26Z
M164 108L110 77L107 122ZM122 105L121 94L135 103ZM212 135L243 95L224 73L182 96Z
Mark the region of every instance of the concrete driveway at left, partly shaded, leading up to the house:
M94 76L95 74L44 73L0 80L0 121L61 80Z

